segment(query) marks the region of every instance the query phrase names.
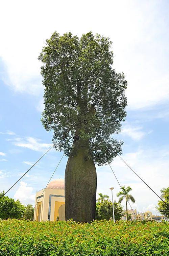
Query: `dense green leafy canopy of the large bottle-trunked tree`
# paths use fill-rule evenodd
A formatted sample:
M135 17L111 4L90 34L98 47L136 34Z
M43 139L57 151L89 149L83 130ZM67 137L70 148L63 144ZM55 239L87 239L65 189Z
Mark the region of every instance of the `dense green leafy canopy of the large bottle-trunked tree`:
M45 86L42 123L53 130L57 150L67 155L89 144L88 157L99 166L111 163L121 152L122 141L111 138L121 131L126 116L124 74L112 68L109 38L92 32L79 39L71 33L54 32L39 59Z

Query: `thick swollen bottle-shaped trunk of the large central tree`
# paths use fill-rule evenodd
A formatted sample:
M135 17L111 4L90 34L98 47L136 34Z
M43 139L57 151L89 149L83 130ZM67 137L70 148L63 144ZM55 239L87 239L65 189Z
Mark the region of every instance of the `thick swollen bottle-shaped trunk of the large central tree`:
M96 212L96 168L87 160L86 147L69 156L65 171L65 217L76 222L91 222Z

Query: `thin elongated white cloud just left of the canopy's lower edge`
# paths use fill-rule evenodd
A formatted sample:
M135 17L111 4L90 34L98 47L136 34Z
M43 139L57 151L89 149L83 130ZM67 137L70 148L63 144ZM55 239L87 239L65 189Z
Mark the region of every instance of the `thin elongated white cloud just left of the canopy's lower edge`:
M17 141L16 139L14 139L14 144L17 147L27 148L33 151L40 152L44 152L52 146L52 144L42 143L40 139L36 139L33 137L17 138Z

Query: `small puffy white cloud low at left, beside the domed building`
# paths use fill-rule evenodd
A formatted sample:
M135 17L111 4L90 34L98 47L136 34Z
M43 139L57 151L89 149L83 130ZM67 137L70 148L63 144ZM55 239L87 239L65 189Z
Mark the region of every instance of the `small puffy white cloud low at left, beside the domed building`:
M32 193L32 191L33 191L32 187L28 187L27 183L21 181L18 190L14 194L14 199L15 200L19 199L21 203L25 205L28 203L34 203L35 194Z

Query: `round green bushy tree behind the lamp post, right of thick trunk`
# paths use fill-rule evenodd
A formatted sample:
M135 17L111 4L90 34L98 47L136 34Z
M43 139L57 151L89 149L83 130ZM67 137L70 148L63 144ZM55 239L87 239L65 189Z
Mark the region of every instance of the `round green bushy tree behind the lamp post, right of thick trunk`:
M109 197L106 196L106 198ZM123 207L120 203L114 202L114 213L115 220L120 220L120 217L123 216ZM101 199L96 203L96 220L110 220L110 218L113 218L112 202L109 199Z

